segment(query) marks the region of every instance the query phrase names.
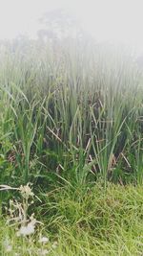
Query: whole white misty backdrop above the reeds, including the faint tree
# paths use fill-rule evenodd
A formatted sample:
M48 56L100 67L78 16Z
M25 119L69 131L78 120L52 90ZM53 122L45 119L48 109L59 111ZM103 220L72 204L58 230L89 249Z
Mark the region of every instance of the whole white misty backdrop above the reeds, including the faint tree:
M0 39L46 40L84 32L96 42L123 44L141 55L142 5L140 0L1 0Z

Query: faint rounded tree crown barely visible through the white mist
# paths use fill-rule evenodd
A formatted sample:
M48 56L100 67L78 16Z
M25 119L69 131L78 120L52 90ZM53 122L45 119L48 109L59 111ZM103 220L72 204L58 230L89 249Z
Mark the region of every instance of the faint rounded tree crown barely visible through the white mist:
M37 35L41 40L82 38L85 34L80 21L72 13L62 9L44 13L39 21L42 28Z

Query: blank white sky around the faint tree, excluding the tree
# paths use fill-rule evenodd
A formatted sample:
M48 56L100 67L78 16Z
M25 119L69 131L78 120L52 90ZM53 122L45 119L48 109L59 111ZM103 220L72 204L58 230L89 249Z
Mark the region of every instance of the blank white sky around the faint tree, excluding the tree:
M143 51L143 0L0 0L0 38L34 35L37 19L56 8L74 12L97 40Z

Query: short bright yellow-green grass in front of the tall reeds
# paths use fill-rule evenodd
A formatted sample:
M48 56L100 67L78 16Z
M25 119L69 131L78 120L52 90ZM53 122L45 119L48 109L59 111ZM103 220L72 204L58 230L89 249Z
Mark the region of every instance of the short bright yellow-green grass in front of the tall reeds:
M65 185L39 197L42 205L33 209L42 229L21 238L1 219L1 255L142 255L141 186ZM47 244L39 244L41 235Z

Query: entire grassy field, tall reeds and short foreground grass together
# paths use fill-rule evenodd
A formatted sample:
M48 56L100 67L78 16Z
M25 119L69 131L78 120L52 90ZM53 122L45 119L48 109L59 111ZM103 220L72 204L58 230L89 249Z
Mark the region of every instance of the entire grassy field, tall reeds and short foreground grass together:
M143 255L142 183L143 76L127 49L1 43L1 255Z

